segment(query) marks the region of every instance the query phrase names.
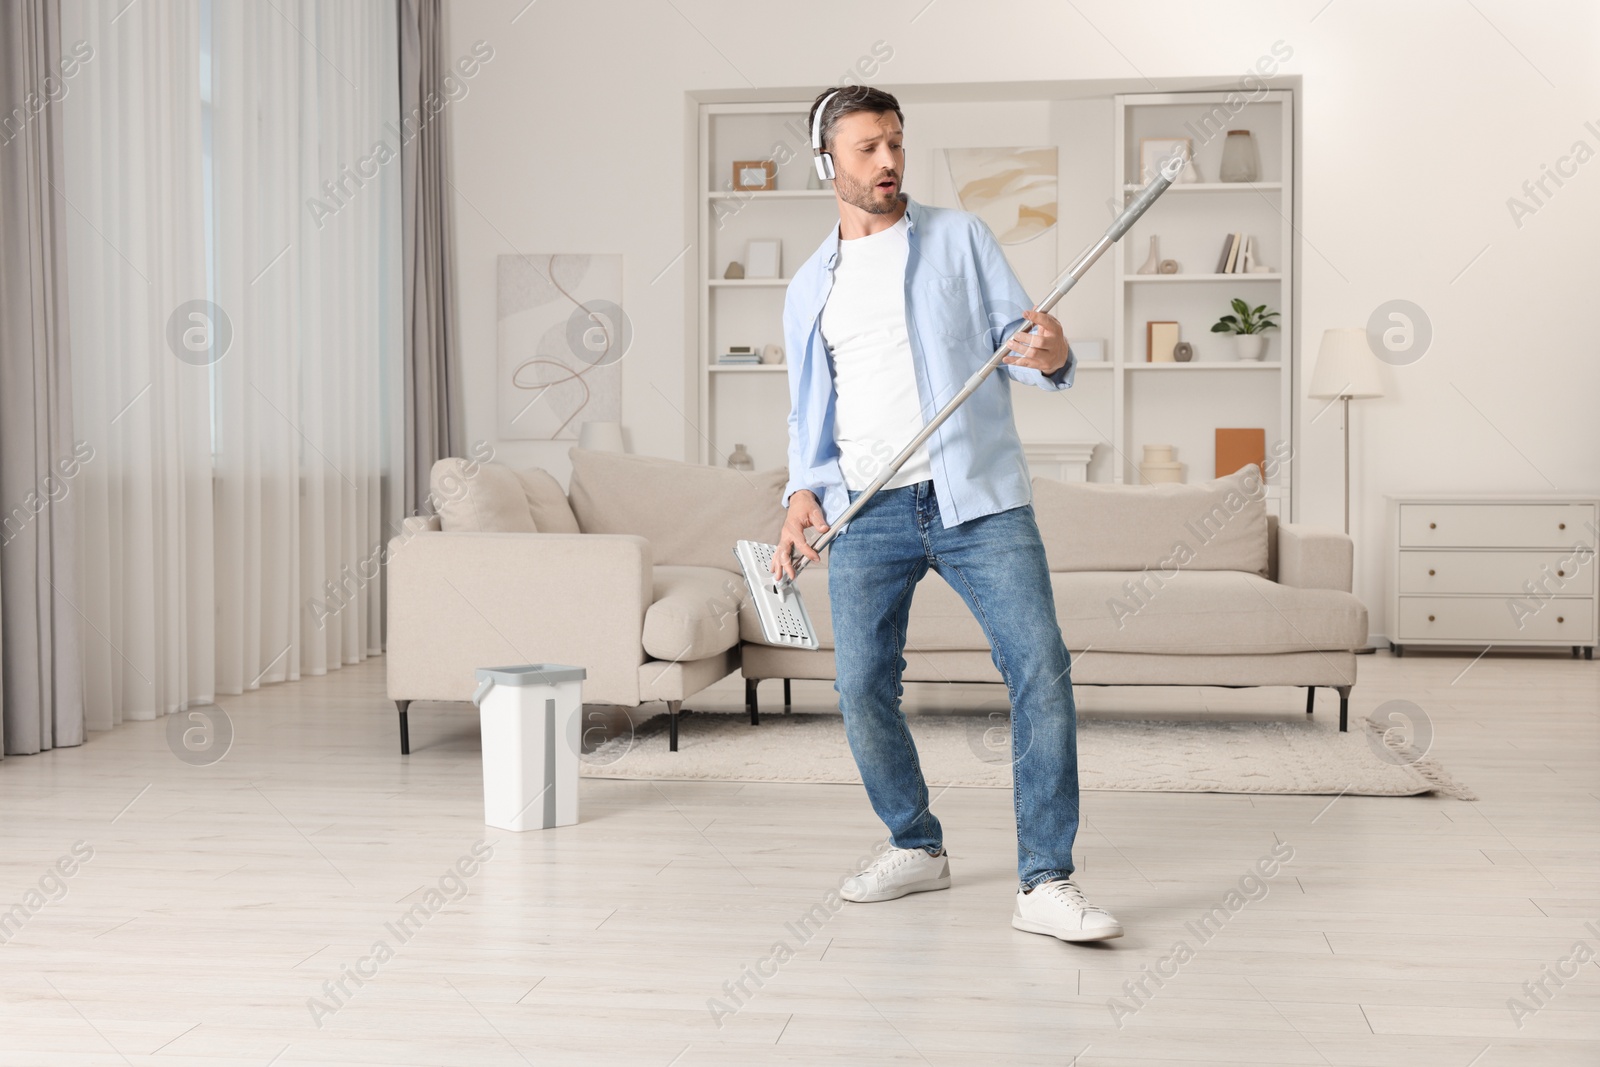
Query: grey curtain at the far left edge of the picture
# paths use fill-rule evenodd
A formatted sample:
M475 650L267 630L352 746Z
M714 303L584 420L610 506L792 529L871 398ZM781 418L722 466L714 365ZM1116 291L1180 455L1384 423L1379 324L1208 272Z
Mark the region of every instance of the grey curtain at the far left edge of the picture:
M0 753L83 744L59 0L0 3Z

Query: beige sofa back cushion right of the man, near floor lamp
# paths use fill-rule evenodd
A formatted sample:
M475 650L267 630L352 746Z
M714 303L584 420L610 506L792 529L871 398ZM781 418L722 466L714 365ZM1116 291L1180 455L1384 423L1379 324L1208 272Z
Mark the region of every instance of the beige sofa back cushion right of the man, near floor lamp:
M1034 478L1051 571L1197 569L1269 576L1261 469L1198 485Z

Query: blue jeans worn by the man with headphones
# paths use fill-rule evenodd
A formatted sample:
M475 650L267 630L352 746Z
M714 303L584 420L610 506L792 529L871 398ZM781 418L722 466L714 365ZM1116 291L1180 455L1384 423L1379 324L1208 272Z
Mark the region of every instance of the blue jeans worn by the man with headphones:
M1018 881L1066 878L1078 832L1077 705L1032 504L946 530L933 482L918 482L880 491L829 544L834 688L872 809L896 848L944 846L901 710L910 597L928 568L982 624L1011 699Z

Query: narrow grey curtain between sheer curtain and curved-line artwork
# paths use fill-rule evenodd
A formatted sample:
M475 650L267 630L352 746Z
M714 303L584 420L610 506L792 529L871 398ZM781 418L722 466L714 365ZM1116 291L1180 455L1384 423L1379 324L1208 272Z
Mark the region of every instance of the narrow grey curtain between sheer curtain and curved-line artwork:
M434 461L466 451L456 267L443 107L442 0L397 0L400 11L400 210L405 259L405 514L427 499Z

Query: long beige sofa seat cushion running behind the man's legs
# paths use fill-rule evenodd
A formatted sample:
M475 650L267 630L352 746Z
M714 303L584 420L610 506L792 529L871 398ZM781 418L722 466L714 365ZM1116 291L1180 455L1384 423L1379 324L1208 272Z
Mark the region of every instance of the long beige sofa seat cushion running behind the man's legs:
M797 579L822 648L834 646L827 571ZM1194 571L1160 579L1144 571L1051 573L1056 619L1067 648L1115 653L1226 656L1347 651L1366 643L1366 606L1333 589L1293 589L1242 571ZM752 606L744 640L762 643ZM938 574L917 584L906 654L989 649L966 601Z

